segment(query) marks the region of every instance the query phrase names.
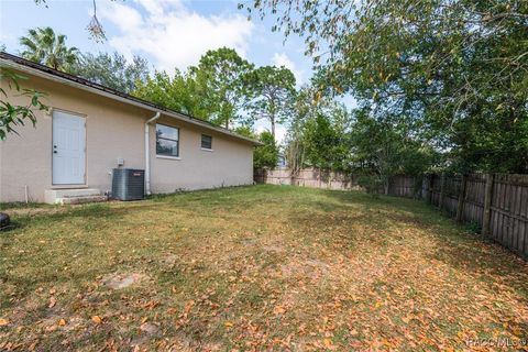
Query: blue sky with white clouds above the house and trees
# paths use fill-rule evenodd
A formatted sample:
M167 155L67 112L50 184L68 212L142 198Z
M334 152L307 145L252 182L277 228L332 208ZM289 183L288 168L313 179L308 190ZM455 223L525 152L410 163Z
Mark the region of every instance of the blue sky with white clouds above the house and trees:
M67 35L67 44L82 52L118 51L127 57L147 58L152 68L172 72L197 64L207 50L222 46L235 48L252 63L284 65L292 69L298 85L309 81L311 61L305 57L299 37L284 42L282 33L273 33L273 19L248 21L237 0L97 0L98 19L108 41L96 43L86 28L90 22L92 0L0 0L0 44L12 54L20 52L19 38L29 29L52 26ZM23 15L21 15L23 13ZM262 131L268 125L256 124ZM282 141L286 129L277 128Z

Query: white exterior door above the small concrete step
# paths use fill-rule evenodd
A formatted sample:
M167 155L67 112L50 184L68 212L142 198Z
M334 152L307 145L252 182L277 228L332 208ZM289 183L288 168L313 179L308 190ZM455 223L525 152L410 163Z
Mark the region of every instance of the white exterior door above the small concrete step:
M53 184L85 184L85 118L53 111Z

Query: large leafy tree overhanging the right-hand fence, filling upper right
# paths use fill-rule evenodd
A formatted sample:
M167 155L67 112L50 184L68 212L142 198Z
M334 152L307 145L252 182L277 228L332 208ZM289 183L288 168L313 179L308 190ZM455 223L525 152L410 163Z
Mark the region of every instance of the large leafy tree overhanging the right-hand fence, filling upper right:
M419 120L415 133L452 151L452 165L528 170L528 2L262 0L249 8L275 15L286 35L304 35L321 91L352 92L378 118Z

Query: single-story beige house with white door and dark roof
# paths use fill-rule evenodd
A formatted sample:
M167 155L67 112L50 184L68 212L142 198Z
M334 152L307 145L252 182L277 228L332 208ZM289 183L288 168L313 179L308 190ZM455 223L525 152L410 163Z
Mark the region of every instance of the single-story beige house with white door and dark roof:
M0 202L102 196L117 167L144 169L146 194L253 183L254 140L7 53L0 65L51 108L0 141Z

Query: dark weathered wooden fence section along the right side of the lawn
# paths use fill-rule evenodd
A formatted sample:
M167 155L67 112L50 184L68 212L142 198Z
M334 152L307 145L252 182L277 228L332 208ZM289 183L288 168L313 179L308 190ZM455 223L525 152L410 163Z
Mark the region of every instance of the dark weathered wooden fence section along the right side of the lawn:
M429 175L422 193L458 222L474 223L483 235L528 257L528 175Z

